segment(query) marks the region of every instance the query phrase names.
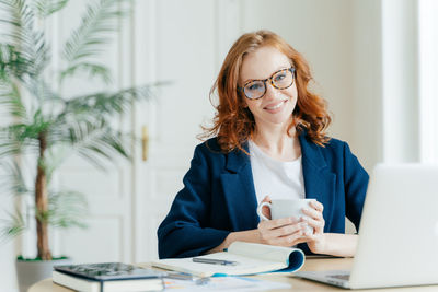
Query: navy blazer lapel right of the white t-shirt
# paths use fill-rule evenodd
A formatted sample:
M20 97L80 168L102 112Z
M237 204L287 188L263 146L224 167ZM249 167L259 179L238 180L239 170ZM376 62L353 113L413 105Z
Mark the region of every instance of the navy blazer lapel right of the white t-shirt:
M304 177L306 198L316 199L324 206L325 222L333 215L335 200L336 174L327 167L321 149L308 140L306 133L300 135L302 173ZM325 230L330 226L325 225Z

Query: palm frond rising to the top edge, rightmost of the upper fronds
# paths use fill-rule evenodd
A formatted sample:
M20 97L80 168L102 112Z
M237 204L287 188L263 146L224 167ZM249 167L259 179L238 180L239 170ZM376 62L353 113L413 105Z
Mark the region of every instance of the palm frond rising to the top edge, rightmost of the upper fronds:
M96 57L111 42L110 33L118 30L117 20L125 13L120 3L125 0L101 0L90 3L82 17L81 25L71 34L64 48L64 58L68 66L61 72L65 77L76 72L74 68L87 68L90 58ZM108 71L91 71L95 74L107 75Z

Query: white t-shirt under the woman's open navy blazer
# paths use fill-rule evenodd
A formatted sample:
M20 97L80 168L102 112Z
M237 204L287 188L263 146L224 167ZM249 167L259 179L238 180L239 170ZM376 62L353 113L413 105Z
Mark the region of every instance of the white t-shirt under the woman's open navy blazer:
M270 199L306 198L301 156L290 162L277 161L253 141L250 140L249 145L257 203L267 195Z

